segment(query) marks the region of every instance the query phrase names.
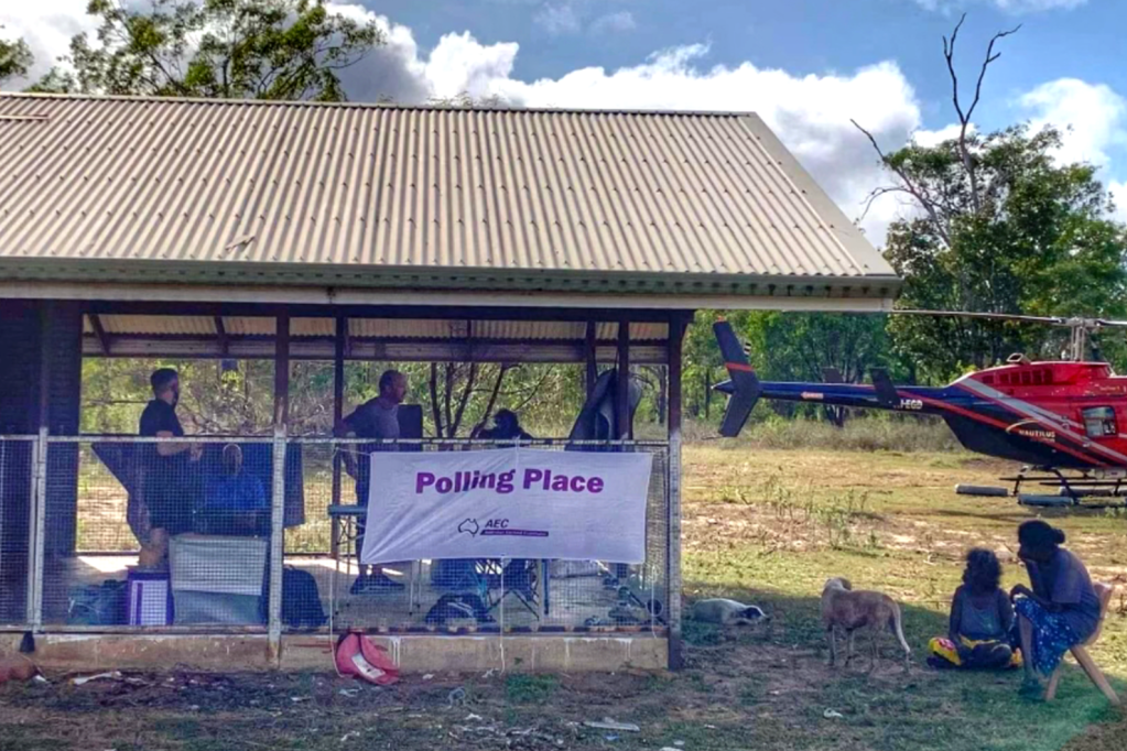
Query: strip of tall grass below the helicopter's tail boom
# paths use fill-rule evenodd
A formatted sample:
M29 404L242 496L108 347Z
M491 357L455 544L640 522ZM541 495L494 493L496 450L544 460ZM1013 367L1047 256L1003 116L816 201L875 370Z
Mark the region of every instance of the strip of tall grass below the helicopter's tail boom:
M715 440L717 427L691 421L685 427L689 441ZM834 452L956 452L959 441L935 418L854 418L845 427L807 419L767 419L749 423L738 438L722 439L731 448L825 449Z

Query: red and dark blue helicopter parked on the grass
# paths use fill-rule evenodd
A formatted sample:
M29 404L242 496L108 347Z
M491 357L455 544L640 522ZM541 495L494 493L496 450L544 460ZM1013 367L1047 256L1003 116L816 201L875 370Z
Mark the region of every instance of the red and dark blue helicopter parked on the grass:
M1120 485L1127 484L1127 377L1115 375L1107 363L1082 361L1090 332L1124 328L1127 321L942 311L894 313L1067 327L1072 332L1070 348L1062 360L1032 361L1024 355L1011 355L1005 365L938 387L896 385L881 368L871 370L871 385L835 378L826 383L767 383L755 376L731 325L718 321L713 331L729 375L728 381L713 386L729 395L720 435L739 435L760 399L933 414L947 422L967 449L1023 463L1017 476L1003 479L1014 483L1013 494L1023 502L1075 504L1084 495L1118 495ZM1057 486L1059 497L1022 497L1022 482Z

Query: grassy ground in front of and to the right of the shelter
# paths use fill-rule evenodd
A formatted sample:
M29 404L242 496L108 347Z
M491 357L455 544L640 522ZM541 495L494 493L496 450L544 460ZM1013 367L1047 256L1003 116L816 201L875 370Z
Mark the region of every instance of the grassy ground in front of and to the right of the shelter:
M735 597L772 618L730 632L686 622L689 664L681 672L410 677L352 698L338 691L353 683L325 674L236 676L223 692L108 681L82 689L65 681L8 685L0 687L0 749L642 751L678 748L676 741L686 751L1127 748L1127 722L1073 665L1058 700L1041 705L1018 699L1018 674L922 664L928 638L946 631L965 551L982 545L1009 556L1018 524L1032 516L1012 499L957 497L952 485L995 484L1013 467L958 452L783 450L721 441L687 447L684 467L686 598ZM1127 575L1127 517L1042 516L1065 529L1094 578ZM1015 563L1005 569L1006 584L1022 580ZM902 604L911 672L903 672L887 636L872 674L864 638L858 664L826 667L818 597L832 575ZM1091 652L1127 694L1127 617L1119 610L1117 602ZM465 689L465 706L447 705L455 687ZM292 696L310 699L294 704ZM842 717L826 718L826 709ZM604 716L637 723L641 732L583 726Z

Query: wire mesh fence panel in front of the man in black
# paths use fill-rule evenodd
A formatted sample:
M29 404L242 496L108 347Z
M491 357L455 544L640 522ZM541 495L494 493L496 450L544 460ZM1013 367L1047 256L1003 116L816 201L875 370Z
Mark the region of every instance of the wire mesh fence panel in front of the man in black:
M48 439L43 624L265 628L273 452L263 438ZM55 455L73 471L52 471Z

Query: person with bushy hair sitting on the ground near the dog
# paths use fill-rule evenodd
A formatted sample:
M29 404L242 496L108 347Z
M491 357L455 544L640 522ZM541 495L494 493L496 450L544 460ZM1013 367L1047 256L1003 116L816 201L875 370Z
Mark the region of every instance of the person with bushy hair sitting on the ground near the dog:
M1013 606L1001 582L996 555L982 548L967 553L962 585L951 598L948 636L928 645L930 665L996 670L1021 664L1021 654L1011 646Z

